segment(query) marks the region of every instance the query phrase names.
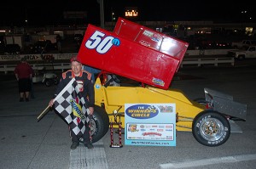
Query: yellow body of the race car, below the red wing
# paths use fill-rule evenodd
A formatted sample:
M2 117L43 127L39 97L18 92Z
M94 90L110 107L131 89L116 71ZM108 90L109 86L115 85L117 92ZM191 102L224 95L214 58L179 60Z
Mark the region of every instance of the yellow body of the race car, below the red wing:
M121 122L125 128L125 104L176 104L177 131L191 131L195 115L206 110L205 105L189 100L178 89L160 89L157 87L117 87L102 85L100 78L96 79L95 95L98 106L104 106L109 115L109 121ZM114 124L113 127L119 127Z

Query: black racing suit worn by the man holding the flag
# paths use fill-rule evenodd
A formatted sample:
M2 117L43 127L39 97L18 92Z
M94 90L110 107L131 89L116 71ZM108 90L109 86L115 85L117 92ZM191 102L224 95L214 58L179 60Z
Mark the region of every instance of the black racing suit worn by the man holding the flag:
M80 76L74 76L72 70L67 70L66 72L62 73L60 83L55 91L55 96L61 92L61 90L67 86L67 83L70 82L73 78L75 78L76 82L79 85L80 92L84 96L86 101L86 106L94 107L95 103L95 92L94 92L94 85L93 82L90 80L91 74L85 70L81 71ZM85 114L85 112L84 112ZM71 122L72 124L73 122ZM71 125L70 124L70 125ZM79 137L70 129L70 137L72 138L73 143L79 143ZM83 143L89 144L90 143L90 127L89 124L85 122L85 132L82 136Z

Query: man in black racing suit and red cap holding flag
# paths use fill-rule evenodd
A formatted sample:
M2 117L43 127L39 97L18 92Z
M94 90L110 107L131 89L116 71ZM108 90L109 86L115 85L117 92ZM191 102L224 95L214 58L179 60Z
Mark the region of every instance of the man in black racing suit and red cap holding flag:
M93 83L90 80L90 73L83 70L83 65L80 63L77 57L73 57L71 60L71 70L67 70L61 76L60 83L55 91L55 96L57 96L61 90L67 86L68 82L70 82L73 78L77 82L79 86L79 91L82 93L84 99L87 99L88 109L90 110L90 115L93 115L94 104L95 104L95 92ZM49 101L49 106L52 107L54 104L54 99ZM83 112L85 114L85 112ZM72 138L73 144L71 145L71 149L76 149L79 146L79 141L83 140L83 144L88 149L93 149L93 145L91 144L90 138L90 124L85 122L85 131L82 136L78 136L73 130L71 126L74 123L79 123L79 121L72 121L69 124L70 136ZM82 139L81 139L82 138Z

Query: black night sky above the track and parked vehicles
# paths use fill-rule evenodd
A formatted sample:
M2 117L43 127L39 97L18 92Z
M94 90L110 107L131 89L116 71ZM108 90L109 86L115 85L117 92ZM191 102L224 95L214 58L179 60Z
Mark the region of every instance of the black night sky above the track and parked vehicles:
M215 22L256 22L256 8L250 3L224 1L172 1L172 0L104 0L105 21L125 17L125 7L137 7L136 20L212 20ZM241 11L247 10L247 14ZM87 11L87 18L64 20L64 11ZM253 17L249 20L249 17ZM254 18L255 17L255 18ZM25 20L28 20L26 23ZM96 0L41 0L5 1L1 4L0 25L65 25L100 24L100 5Z

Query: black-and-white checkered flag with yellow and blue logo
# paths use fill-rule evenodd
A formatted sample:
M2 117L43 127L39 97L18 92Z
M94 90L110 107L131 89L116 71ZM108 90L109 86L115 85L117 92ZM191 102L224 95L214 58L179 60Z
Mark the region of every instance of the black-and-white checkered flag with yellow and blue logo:
M77 136L82 136L85 131L85 122L90 122L90 110L86 108L86 101L80 93L79 86L74 78L54 100L55 110L67 121L70 129Z

